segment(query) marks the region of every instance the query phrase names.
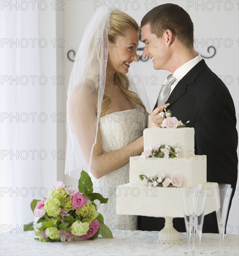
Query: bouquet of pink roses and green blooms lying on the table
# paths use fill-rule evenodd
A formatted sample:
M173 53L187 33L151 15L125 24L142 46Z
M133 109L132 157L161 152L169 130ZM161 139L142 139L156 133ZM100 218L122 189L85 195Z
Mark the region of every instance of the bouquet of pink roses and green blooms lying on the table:
M31 209L34 221L24 225L24 231L34 230L41 242L58 242L95 239L98 235L113 238L104 224L103 216L97 211L100 203L108 198L93 193L90 176L81 172L78 189L66 188L63 182L56 182L50 191L51 197L33 199Z

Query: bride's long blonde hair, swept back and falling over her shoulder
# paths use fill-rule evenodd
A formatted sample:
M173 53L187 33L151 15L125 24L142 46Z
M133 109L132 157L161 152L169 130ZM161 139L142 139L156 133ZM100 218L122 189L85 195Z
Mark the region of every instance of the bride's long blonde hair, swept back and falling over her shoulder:
M109 42L114 43L116 37L123 36L123 31L128 28L135 29L137 32L139 31L139 25L131 16L122 11L113 11L110 14L110 30L108 33ZM129 90L130 83L128 77L125 74L116 72L116 74L114 75L114 81L116 82L123 95L125 95L129 100L133 101L135 106L139 105L143 108L144 112L146 112L146 108L138 95L133 91ZM103 115L106 109L109 108L110 104L110 94L107 94L104 91L101 115Z

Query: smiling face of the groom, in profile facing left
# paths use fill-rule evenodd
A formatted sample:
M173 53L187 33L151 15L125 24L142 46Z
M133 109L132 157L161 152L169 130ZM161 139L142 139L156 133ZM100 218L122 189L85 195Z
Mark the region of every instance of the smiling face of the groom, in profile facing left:
M165 38L158 38L150 32L149 24L141 28L142 40L145 43L143 56L149 56L155 69L166 69L168 63L168 49Z

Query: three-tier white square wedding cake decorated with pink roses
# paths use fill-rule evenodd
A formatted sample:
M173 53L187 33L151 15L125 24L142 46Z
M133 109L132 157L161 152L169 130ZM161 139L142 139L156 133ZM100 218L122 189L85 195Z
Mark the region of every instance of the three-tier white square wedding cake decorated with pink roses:
M207 156L194 155L194 128L185 128L168 112L165 128L145 129L144 152L130 157L129 183L118 187L118 214L184 217L178 189L187 187L190 193L198 184L212 190L205 215L215 210L213 193L218 184L207 182Z

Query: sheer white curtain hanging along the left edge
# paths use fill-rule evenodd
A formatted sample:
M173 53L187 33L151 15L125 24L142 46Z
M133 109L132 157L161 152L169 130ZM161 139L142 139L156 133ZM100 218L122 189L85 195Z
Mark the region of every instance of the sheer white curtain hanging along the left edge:
M22 11L8 6L0 15L1 232L32 221L32 198L46 196L40 189L41 64L38 44L32 46L32 39L39 36L38 12L38 8Z

